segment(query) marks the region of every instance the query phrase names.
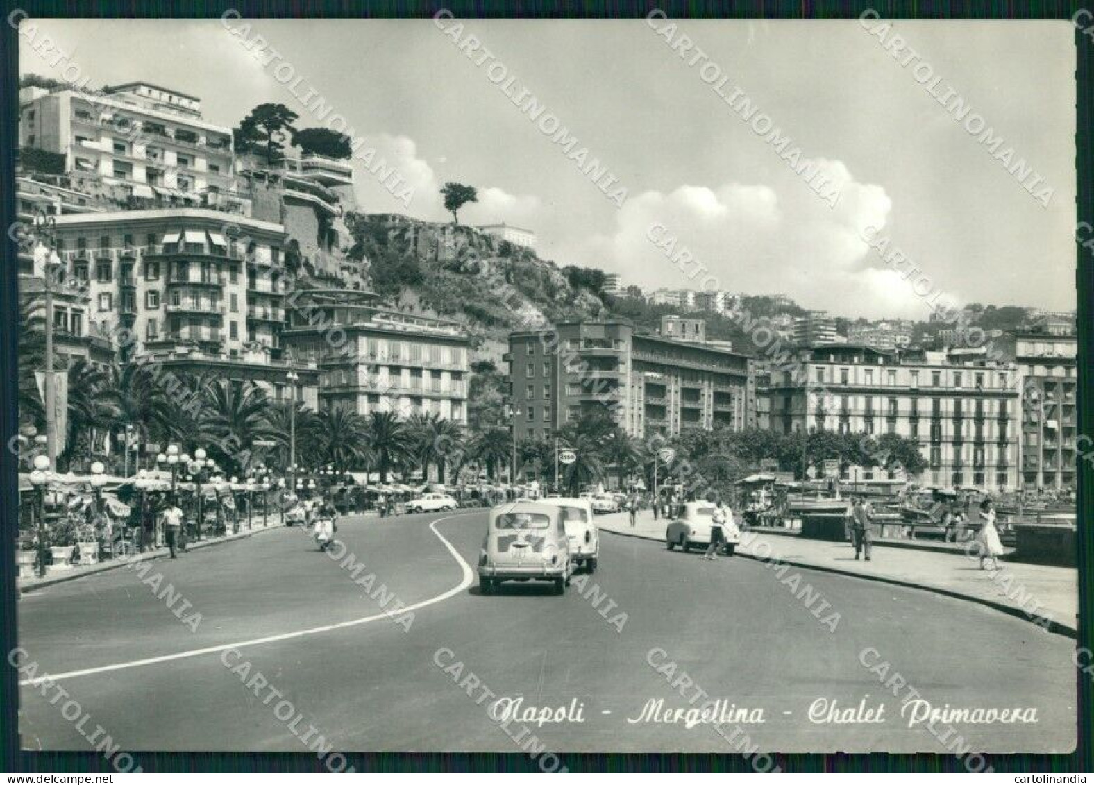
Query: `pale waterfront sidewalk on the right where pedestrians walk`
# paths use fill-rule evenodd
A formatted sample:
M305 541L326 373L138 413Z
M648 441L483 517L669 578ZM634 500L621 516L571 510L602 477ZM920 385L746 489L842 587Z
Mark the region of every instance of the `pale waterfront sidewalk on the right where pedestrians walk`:
M596 518L604 531L627 537L656 540L664 544L662 518L643 511L635 528L626 513ZM757 553L757 548L759 549ZM1000 561L992 574L979 569L979 560L953 546L931 550L912 549L906 542L874 543L871 561L856 561L850 542L804 539L798 535L769 534L753 529L742 536L737 555L760 561L785 562L793 566L823 570L881 581L898 586L922 588L971 600L1012 616L1027 619L1074 637L1079 621L1079 576L1071 567ZM975 554L975 551L974 551Z

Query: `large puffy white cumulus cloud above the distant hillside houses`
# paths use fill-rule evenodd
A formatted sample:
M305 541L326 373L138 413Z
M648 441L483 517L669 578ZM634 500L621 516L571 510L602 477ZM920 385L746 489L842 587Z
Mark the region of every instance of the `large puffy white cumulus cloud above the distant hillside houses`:
M885 189L856 181L840 161L818 160L840 191L835 208L788 173L777 185L728 183L645 191L626 202L615 231L577 241L566 256L602 266L645 286L785 292L806 307L846 315L922 318L926 300L888 269L862 239L883 229L892 210ZM675 237L699 263L674 263L649 238ZM717 283L706 276L717 279Z

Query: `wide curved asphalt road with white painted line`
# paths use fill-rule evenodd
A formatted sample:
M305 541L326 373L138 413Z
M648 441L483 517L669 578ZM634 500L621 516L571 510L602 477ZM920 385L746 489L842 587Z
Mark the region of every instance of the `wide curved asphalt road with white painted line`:
M484 596L467 567L477 562L485 518L340 524L347 552L365 564L359 576L375 575L369 590L289 528L155 560L144 581L162 574L159 591L125 569L58 584L23 595L20 641L38 677L75 673L58 683L91 715L84 733L97 724L127 750L303 751L299 737L311 725L335 749L354 751L514 752L512 737L529 739L525 726L552 751L740 751L740 735L731 743L711 725L629 722L650 700L666 711L701 705L687 700L695 688L677 682L674 690L650 666L651 649L660 649L657 665L677 664L668 679L686 675L725 704L761 708L763 723L741 724L761 750L942 752L957 735L980 751L1074 747L1073 642L1028 622L928 591L785 573L784 581L800 576L798 593L808 584L831 606L822 618L840 613L833 633L758 562L708 562L609 534L601 538L600 570L562 597L546 584ZM181 595L174 608L182 598L193 606L182 616L201 613L196 632L155 596L168 583ZM381 584L404 606L423 604L409 631L407 617L395 623L370 597ZM238 654L218 651L240 642L253 643ZM946 723L934 735L909 728L900 701L860 664L866 647L876 649L871 664L891 663L889 676L899 672L938 707L1033 707L1037 722L958 723L951 735ZM241 680L222 657L249 663L249 673ZM461 672L445 672L434 657L463 663ZM141 660L151 661L133 665ZM269 687L254 681L257 673ZM525 707L577 701L583 722L514 722L507 731L488 716L484 687L523 696ZM270 688L283 698L267 704ZM817 699L840 707L884 702L884 722L813 723ZM282 700L295 710L288 723L275 714ZM88 749L61 703L24 684L25 748Z

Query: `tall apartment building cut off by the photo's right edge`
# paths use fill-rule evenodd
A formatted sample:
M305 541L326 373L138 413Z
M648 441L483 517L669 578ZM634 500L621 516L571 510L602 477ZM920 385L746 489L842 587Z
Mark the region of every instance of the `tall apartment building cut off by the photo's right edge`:
M1022 484L1062 489L1075 483L1078 340L1034 328L1015 335L1019 372L1026 389L1022 403Z

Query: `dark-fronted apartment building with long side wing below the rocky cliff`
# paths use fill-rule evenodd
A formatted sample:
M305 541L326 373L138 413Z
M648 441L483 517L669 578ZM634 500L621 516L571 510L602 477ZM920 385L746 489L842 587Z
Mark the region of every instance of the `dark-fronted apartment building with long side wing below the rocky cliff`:
M508 360L521 440L548 438L567 422L597 411L640 437L756 424L748 358L637 335L625 323L567 323L552 332L514 332Z

